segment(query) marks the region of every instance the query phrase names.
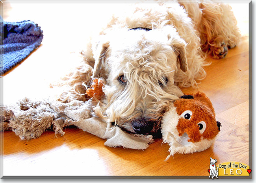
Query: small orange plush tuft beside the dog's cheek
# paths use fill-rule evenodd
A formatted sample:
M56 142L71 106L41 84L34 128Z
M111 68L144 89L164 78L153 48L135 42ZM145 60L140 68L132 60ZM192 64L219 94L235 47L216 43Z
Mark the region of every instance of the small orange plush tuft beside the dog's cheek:
M104 84L105 80L103 78L94 78L90 88L86 91L87 96L89 98L95 97L96 100L101 100L104 96L104 92L102 90Z

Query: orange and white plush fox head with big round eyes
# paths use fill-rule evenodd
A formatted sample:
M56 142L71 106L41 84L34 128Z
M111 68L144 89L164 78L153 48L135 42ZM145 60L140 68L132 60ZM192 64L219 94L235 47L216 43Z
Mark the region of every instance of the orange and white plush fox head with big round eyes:
M203 92L181 96L161 122L163 142L170 146L170 154L165 160L175 153L206 150L214 142L220 127L211 101Z

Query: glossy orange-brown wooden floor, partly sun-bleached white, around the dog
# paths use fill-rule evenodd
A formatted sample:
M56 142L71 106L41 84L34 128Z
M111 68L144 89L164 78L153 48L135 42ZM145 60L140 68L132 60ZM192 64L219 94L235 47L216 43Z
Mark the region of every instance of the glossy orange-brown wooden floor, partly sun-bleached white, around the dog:
M103 24L111 9L121 8L113 4L4 4L5 21L30 19L44 31L41 46L1 78L4 104L24 96L40 98L52 94L49 83L76 65L72 52L82 49L89 33ZM66 128L63 137L56 138L53 131L46 131L39 139L29 141L5 131L0 132L3 175L209 176L210 157L218 163L237 161L249 165L248 4L234 6L236 9L236 14L244 11L238 19L243 34L241 42L224 59L208 58L212 64L205 68L207 77L198 89L182 89L205 92L215 107L222 128L209 149L176 154L164 161L169 146L162 144L161 139L142 151L109 148L104 146L105 140L75 127ZM104 17L97 12L105 12Z

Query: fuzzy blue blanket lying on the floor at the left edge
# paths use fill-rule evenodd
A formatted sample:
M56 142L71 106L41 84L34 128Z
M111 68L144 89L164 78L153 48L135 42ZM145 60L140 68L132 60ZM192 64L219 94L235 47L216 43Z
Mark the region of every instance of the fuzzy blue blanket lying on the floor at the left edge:
M0 75L28 57L43 40L43 31L30 20L0 23Z

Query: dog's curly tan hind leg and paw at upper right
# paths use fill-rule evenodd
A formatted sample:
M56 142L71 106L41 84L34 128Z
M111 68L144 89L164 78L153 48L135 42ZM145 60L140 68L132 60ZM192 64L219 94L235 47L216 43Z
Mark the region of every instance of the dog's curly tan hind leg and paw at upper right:
M240 32L232 9L227 4L200 4L202 18L199 25L202 50L221 59L239 41Z

